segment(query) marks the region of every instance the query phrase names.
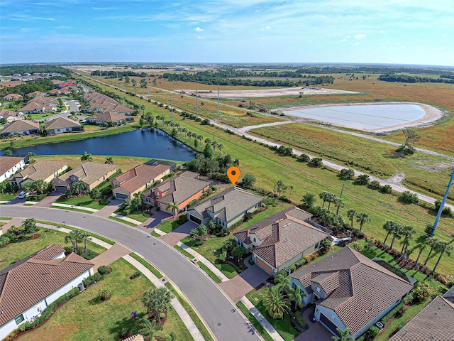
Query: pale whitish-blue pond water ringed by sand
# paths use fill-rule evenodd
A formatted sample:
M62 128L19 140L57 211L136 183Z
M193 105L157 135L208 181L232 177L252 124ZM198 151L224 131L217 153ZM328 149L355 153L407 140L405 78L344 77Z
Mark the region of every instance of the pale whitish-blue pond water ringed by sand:
M284 110L284 114L316 119L359 129L383 129L408 124L424 117L426 112L416 104L333 105L311 109Z

